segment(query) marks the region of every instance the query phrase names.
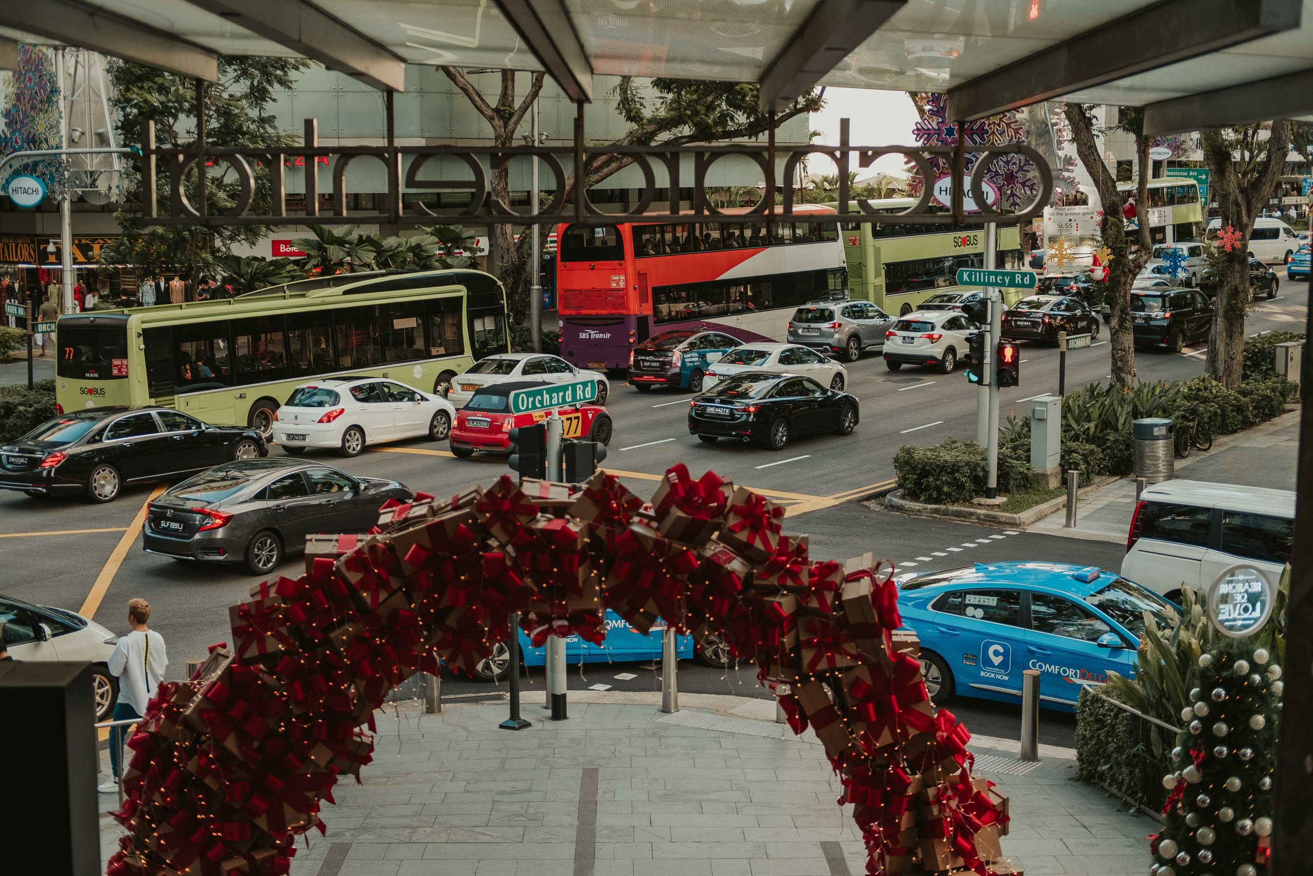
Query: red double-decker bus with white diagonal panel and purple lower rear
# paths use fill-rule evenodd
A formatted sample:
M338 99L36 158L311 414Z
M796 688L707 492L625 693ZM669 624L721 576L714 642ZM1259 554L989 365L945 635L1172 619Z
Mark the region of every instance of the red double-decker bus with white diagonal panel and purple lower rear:
M834 213L809 204L794 214ZM626 368L629 351L667 330L784 340L789 317L847 286L834 222L633 222L557 229L562 353L582 368Z

